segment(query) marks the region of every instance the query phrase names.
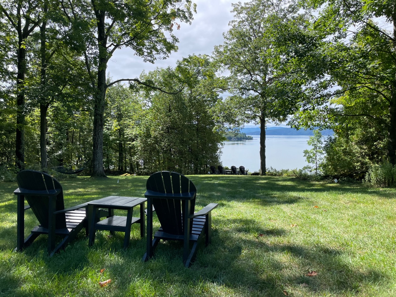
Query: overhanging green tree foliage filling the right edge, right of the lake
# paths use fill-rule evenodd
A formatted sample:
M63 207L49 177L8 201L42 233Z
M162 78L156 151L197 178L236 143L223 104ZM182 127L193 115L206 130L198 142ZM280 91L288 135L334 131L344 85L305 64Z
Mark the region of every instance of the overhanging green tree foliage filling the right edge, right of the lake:
M305 89L308 100L294 123L335 131L326 146L328 174L367 171L386 157L394 164L396 36L388 31L396 21L393 2L305 3L320 10L312 28L320 42L301 64L316 79Z

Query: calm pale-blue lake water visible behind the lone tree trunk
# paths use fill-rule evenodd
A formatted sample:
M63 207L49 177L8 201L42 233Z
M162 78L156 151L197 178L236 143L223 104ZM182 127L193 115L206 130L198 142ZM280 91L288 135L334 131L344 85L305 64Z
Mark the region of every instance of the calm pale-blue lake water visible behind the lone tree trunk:
M223 166L244 166L249 172L260 169L260 136L251 135L253 140L225 141L220 161ZM280 136L266 137L265 160L267 168L302 169L307 165L303 150L311 149L307 145L309 136Z

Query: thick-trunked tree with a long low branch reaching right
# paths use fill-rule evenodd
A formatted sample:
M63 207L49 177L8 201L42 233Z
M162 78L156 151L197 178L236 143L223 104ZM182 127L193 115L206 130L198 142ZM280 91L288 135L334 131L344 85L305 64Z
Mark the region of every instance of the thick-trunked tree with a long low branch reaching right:
M101 177L105 176L103 125L106 89L121 81L144 83L138 78L107 83L106 67L109 59L116 49L124 47L131 48L135 55L146 62L154 62L158 57L166 58L171 51L177 49L178 40L173 30L179 29L180 24L176 22L190 23L195 6L190 0L91 0L86 2L85 8L89 23L95 24L91 28L90 38L86 38L95 42L89 44L88 41L84 51L86 67L94 89L92 176ZM97 69L96 74L92 69Z

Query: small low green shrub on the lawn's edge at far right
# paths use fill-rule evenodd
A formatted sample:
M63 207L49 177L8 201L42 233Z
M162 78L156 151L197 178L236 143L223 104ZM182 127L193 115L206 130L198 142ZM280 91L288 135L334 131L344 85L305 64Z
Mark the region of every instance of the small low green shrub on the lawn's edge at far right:
M373 164L367 171L366 182L379 187L390 187L396 184L396 165L384 161Z

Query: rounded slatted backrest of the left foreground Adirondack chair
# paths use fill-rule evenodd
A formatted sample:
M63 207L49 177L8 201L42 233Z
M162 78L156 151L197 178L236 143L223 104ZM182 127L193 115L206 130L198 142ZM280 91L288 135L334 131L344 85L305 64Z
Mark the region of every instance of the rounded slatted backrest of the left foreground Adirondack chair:
M25 199L30 205L30 208L32 209L40 225L44 228L48 228L49 198L48 196L45 196L45 192L48 190L61 189L61 192L56 196L55 211L65 209L61 184L56 179L51 177L51 175L35 170L23 170L19 172L17 174L17 183L21 192L43 191L43 196L29 196L29 194L25 194ZM65 213L58 213L56 215L55 228L66 228Z

